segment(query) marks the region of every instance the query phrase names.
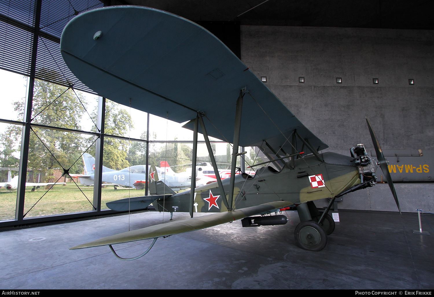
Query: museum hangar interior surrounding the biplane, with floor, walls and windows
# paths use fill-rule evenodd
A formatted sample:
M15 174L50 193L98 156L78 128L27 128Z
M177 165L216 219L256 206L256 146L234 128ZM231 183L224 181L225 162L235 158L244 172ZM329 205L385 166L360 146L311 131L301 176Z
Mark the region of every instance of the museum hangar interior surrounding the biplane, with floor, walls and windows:
M402 215L378 168L375 187L336 199L339 221L321 251L296 246L299 216L292 209L282 212L289 220L282 226L234 221L160 238L135 261L116 259L106 246L69 251L169 222L167 212L118 213L105 205L145 195L148 174L139 192L121 182L122 173L89 181L90 171L162 162L179 166L179 175L191 170L191 130L99 96L62 59L65 25L115 5L164 10L209 30L329 146L322 153L350 156L350 148L364 144L376 158L369 118ZM433 10L433 1L0 0L0 288L432 289ZM198 138L197 162L209 164L205 139ZM230 163L227 141L211 142L216 161ZM245 171L261 149L243 151L237 165ZM86 168L84 154L94 167ZM329 200L315 204L325 208ZM413 232L420 229L417 209L431 235ZM187 218L173 214L174 222ZM151 242L115 249L131 257Z

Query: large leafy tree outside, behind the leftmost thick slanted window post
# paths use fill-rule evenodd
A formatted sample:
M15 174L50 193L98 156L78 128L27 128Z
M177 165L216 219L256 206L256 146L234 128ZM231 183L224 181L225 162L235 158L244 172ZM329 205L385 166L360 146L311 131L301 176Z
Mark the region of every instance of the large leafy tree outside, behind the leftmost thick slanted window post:
M50 82L35 80L33 88L32 123L69 129L81 129L80 121L85 112L85 98L81 93ZM24 103L14 102L15 110L22 119ZM83 137L78 133L53 129L32 128L29 141L28 169L42 173L45 181L54 180L54 170L69 168L79 159L83 150ZM16 139L18 149L21 129L11 126L6 134ZM2 145L7 145L3 140ZM11 146L12 147L12 146ZM81 162L76 162L70 173L82 171ZM42 180L41 180L42 181Z

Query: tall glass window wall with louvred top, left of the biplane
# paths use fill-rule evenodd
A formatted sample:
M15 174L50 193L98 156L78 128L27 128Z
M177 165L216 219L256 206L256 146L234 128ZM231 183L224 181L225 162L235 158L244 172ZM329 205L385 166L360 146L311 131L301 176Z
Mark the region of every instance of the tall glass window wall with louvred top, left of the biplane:
M56 215L104 213L106 202L147 194L151 165L174 191L191 186L193 132L182 128L184 123L92 94L62 60L59 42L65 24L102 6L97 0L0 3L0 166L8 168L0 170L0 226L10 224L8 220L22 224ZM33 28L36 23L39 28ZM34 32L38 35L33 39ZM210 141L218 173L199 133L197 185L215 181L217 174L230 176L231 145ZM244 161L265 161L257 148L245 150L237 158L238 168ZM95 176L99 166L101 180ZM19 187L19 176L25 186ZM16 186L5 188L8 181ZM100 205L95 193L101 195Z

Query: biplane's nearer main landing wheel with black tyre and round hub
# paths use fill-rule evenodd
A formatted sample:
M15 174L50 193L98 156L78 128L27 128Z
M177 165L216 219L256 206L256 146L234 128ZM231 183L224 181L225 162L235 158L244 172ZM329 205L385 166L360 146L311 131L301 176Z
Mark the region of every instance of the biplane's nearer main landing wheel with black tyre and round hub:
M308 251L321 251L327 244L324 228L314 221L298 224L294 236L299 247Z

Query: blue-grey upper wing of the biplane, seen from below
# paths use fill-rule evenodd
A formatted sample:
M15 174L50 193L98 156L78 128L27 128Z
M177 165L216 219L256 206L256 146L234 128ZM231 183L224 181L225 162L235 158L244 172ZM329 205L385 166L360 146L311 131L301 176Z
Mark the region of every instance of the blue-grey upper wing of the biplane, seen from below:
M94 40L98 31L102 35ZM203 112L212 123L208 135L232 142L235 106L246 86L241 146L266 140L290 153L289 135L297 129L314 148L328 147L227 46L180 16L148 7L90 10L66 25L60 49L83 83L120 104L131 102L132 108L176 122ZM302 143L298 146L301 151Z

